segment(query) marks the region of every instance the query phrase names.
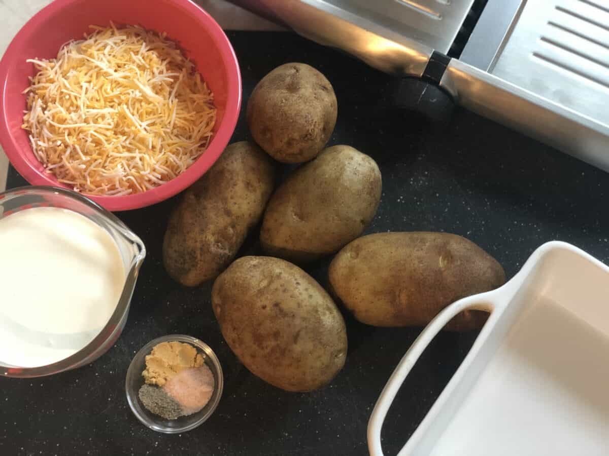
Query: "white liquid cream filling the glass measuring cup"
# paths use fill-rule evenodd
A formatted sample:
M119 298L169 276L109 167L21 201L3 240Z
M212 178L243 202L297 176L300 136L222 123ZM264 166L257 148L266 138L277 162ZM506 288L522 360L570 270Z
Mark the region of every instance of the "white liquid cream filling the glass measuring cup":
M77 212L33 207L0 219L0 360L49 365L100 333L125 285L110 234Z

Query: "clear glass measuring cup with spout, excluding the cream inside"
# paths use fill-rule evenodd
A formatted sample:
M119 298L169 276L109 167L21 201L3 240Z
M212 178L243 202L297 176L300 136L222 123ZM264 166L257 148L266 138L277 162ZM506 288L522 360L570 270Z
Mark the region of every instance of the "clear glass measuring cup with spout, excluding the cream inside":
M121 253L126 271L125 285L114 313L91 342L62 361L41 367L18 367L0 359L0 375L30 378L51 375L88 364L104 354L121 335L127 322L129 304L139 268L146 257L146 247L135 233L116 216L79 193L57 187L21 187L0 193L0 219L33 207L60 207L90 219L113 238Z

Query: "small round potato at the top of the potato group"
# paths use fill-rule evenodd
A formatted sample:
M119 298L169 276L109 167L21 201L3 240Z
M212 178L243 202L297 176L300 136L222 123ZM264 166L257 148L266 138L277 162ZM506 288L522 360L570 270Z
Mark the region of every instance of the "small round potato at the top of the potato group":
M267 74L247 102L253 139L283 163L317 156L334 131L336 95L326 77L304 63L286 63Z

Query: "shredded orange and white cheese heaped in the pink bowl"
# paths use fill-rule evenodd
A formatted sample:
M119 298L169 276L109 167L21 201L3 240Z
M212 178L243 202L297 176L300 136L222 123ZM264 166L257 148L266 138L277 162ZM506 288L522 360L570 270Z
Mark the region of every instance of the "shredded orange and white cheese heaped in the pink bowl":
M47 172L92 195L145 192L205 151L213 94L166 35L91 26L51 60L28 60L23 128Z

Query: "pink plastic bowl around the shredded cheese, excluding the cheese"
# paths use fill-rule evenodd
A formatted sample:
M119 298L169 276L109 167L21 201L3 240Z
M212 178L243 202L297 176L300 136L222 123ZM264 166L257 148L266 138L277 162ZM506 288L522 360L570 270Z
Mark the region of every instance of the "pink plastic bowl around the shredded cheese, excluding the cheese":
M26 96L22 92L34 74L28 58L54 58L69 40L80 39L96 24L141 25L177 41L214 93L218 109L214 137L208 149L175 179L144 193L89 196L108 210L149 206L181 192L216 162L227 146L239 117L241 74L227 36L211 16L189 0L55 0L33 16L13 38L0 61L0 143L10 162L32 185L59 184L32 152L21 129Z

